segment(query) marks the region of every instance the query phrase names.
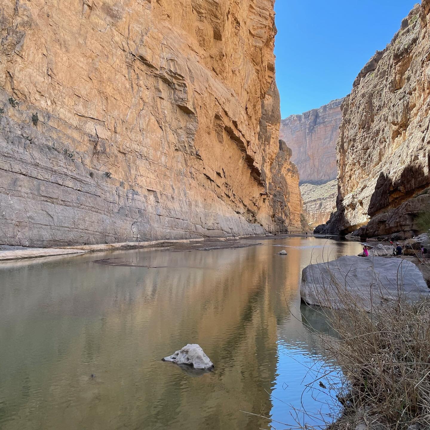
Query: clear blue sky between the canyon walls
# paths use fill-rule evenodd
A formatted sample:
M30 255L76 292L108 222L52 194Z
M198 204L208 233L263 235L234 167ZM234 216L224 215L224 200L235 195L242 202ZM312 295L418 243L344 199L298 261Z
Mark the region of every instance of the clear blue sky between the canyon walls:
M285 118L350 93L417 0L276 0L276 82Z

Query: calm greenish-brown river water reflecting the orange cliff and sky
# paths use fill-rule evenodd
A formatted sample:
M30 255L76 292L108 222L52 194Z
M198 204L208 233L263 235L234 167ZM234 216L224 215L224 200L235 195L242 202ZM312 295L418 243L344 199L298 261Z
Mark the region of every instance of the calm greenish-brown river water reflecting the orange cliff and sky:
M0 264L0 428L281 429L276 421L294 424L293 407L327 412L327 393L305 387L315 378L307 367L324 363L305 318L327 327L300 305L301 270L323 251L361 247L262 243ZM214 372L193 377L160 361L187 343L203 347Z

